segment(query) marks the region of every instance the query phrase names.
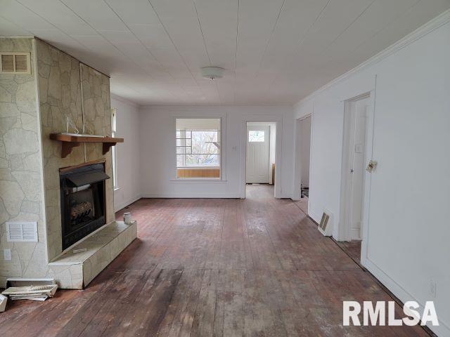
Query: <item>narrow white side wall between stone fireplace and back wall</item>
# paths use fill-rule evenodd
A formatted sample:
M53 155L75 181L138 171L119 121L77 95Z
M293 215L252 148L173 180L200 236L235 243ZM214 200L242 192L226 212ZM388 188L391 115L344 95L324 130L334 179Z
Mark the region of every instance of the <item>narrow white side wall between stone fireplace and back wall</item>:
M118 211L141 197L139 109L123 98L111 95L111 107L117 109L117 137L124 143L116 145L117 185L114 209Z

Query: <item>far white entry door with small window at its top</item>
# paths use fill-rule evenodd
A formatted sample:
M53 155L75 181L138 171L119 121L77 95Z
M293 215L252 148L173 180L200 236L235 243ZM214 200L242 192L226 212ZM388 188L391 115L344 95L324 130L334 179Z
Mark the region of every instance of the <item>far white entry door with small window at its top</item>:
M269 183L269 126L247 126L247 183Z

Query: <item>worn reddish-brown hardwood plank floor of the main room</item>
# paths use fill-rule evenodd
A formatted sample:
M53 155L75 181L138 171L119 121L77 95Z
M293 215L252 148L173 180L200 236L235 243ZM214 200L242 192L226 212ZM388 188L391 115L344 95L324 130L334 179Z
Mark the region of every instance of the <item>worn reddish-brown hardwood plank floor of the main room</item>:
M0 336L427 336L342 327L342 300L390 296L271 189L136 201L138 239L84 291L9 302Z

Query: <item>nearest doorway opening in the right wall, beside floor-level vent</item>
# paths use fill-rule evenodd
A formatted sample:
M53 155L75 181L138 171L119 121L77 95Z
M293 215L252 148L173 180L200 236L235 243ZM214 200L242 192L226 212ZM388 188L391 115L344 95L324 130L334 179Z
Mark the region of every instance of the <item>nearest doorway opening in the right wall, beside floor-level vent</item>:
M368 196L366 164L372 155L373 95L366 93L345 101L342 143L341 212L338 241L350 242L361 253L364 209Z

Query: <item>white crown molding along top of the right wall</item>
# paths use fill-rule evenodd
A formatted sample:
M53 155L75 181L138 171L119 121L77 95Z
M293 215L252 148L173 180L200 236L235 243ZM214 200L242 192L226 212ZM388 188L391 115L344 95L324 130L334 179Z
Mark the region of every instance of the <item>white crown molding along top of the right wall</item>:
M400 49L408 46L409 44L412 44L414 41L420 39L421 37L424 37L426 34L429 34L433 30L441 27L442 25L445 25L447 22L450 22L450 9L447 11L444 11L443 13L437 15L436 18L428 21L425 23L425 25L422 25L418 27L418 29L414 30L410 34L406 35L406 37L399 39L399 41L394 42L394 44L391 44L389 47L383 49L383 51L380 51L380 53L373 55L368 60L362 62L360 65L357 65L352 70L349 70L348 72L345 72L344 74L340 75L339 77L336 77L335 79L329 81L324 86L321 86L320 88L316 89L314 92L310 93L306 97L299 100L294 107L297 107L301 105L302 103L311 100L312 98L316 97L316 95L319 95L323 91L326 91L328 88L334 86L335 84L338 84L340 81L344 81L345 79L348 79L353 74L356 74L357 72L361 72L362 70L371 67L372 65L377 64L378 62L381 62L388 56L392 55L393 53L396 53Z

